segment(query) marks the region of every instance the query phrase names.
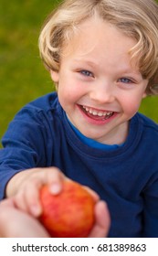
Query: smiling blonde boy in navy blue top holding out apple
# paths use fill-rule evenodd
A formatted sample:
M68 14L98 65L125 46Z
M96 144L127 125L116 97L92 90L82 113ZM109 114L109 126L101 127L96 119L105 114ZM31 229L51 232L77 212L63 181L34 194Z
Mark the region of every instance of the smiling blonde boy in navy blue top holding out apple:
M107 202L109 237L158 237L158 125L138 113L158 92L158 5L66 0L48 17L39 48L57 92L10 123L1 198L37 217L39 188L59 193L68 177L100 196L97 222Z

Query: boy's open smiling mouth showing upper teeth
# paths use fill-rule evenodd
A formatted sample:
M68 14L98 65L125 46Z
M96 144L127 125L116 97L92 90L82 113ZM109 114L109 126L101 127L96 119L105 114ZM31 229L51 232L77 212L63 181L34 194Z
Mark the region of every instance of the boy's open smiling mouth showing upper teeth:
M88 115L90 118L93 120L98 120L98 121L104 121L108 120L113 116L114 112L109 112L109 111L100 111L96 110L87 106L79 106L82 112L84 112L86 115Z

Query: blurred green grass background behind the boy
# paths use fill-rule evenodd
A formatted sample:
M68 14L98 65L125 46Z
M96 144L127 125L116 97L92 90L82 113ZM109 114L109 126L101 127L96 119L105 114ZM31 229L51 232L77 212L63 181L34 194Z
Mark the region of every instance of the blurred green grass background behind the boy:
M37 38L57 0L1 0L0 3L0 139L16 112L54 91L39 59ZM158 123L158 98L142 101L141 112Z

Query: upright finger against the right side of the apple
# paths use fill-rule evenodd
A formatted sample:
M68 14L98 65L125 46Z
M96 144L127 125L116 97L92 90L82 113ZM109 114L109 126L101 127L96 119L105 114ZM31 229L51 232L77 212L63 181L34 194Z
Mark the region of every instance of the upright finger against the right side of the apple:
M111 218L105 202L100 201L95 208L96 224L90 232L90 238L105 238L108 235Z

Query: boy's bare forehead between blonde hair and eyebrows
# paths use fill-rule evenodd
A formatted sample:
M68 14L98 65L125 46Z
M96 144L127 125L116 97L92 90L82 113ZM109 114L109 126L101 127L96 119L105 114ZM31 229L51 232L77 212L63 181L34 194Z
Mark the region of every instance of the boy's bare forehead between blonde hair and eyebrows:
M63 53L69 58L89 58L95 59L95 62L108 58L117 62L120 59L129 61L129 50L136 41L110 23L93 17L81 23L66 43Z

